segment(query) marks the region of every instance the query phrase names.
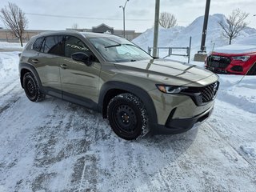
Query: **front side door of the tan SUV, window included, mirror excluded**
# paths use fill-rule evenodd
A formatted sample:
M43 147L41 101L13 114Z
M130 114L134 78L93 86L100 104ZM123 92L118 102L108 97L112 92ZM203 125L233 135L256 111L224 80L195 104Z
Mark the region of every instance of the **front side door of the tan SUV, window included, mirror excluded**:
M98 102L101 64L88 46L77 37L66 36L64 50L65 57L60 62L63 98L70 101L74 101L74 98L82 99L88 104L83 103L83 105L90 107L92 103ZM78 52L90 55L90 61L87 63L74 61L71 55Z

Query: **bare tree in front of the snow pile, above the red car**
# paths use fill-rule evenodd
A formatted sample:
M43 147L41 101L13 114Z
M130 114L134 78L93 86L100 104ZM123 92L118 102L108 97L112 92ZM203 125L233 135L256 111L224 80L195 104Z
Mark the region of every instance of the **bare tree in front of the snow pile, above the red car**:
M248 13L242 12L240 9L233 10L226 21L219 21L218 25L222 27L222 34L225 38L228 38L230 44L232 40L240 34L241 30L245 29L248 25L245 19L248 17Z

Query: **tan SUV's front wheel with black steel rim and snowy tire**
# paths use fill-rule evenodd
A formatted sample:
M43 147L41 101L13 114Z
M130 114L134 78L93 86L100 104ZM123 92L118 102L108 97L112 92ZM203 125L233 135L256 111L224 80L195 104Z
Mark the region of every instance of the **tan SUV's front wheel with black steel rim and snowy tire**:
M134 94L118 94L107 106L107 118L114 133L133 140L148 132L146 106Z

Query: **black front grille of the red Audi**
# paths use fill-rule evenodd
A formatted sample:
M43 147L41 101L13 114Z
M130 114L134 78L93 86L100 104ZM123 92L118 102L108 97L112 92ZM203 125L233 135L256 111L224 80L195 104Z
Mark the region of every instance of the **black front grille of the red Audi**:
M207 65L215 68L225 69L228 65L230 65L231 59L227 57L210 55L207 58Z

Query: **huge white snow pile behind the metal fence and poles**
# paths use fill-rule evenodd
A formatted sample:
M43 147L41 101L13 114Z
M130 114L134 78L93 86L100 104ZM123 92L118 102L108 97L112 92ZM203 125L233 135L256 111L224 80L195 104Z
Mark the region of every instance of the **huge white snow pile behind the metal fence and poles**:
M204 17L198 17L189 26L176 26L171 29L159 29L158 46L189 46L190 36L192 37L192 50L199 50L202 38L202 26ZM224 14L214 14L209 16L206 51L215 47L228 45L228 39L222 37L222 29L218 25L218 21L226 21ZM239 39L247 37L250 34L256 34L254 28L246 27L242 30ZM142 49L147 50L148 46L153 46L154 28L146 30L143 34L135 38L133 42ZM238 38L237 38L238 39ZM233 42L236 42L234 39Z

